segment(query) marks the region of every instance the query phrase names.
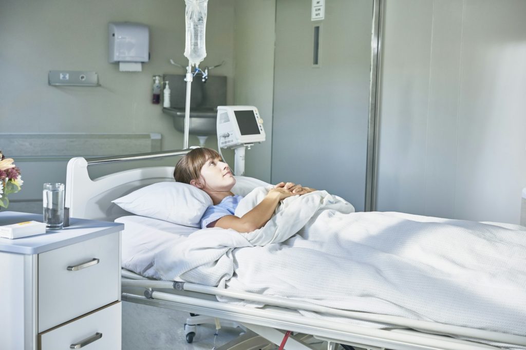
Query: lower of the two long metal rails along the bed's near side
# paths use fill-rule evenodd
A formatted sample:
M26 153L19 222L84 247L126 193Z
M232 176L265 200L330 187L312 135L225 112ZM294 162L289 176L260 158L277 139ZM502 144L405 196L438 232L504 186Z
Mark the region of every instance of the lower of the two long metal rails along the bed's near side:
M463 341L441 335L421 332L392 332L377 328L312 319L285 309L258 309L219 301L203 300L191 296L177 295L158 291L148 291L148 297L123 293L122 299L145 305L193 312L200 315L217 317L239 322L243 325L259 325L279 328L292 332L323 337L336 343L367 344L399 350L487 350L499 349L485 344Z

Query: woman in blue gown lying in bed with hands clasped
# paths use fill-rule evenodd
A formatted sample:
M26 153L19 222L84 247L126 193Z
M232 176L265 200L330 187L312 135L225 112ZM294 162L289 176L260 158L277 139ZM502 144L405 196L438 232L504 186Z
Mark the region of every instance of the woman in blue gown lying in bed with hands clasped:
M242 197L231 192L236 179L216 151L206 148L190 151L177 163L174 178L177 182L204 190L212 199L214 205L206 209L201 218L201 228L231 228L238 232L251 232L263 227L281 200L315 190L291 182L280 182L257 206L244 216L237 217L234 213Z

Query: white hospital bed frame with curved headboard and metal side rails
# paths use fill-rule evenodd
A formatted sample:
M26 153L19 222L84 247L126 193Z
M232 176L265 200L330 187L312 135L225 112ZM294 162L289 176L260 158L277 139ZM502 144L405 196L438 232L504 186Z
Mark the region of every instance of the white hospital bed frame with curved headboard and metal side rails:
M91 179L87 167L117 162L184 155L189 150L156 152L146 155L97 158L72 158L67 166L66 206L70 216L113 221L130 215L112 200L135 189L157 182L173 181L173 167L145 167ZM126 230L126 228L125 228ZM263 307L219 302L217 296L265 304ZM328 349L348 344L368 349L497 349L488 344L511 344L526 348L526 336L486 331L437 322L406 319L399 316L352 312L323 307L303 301L289 300L255 293L230 292L227 289L195 283L155 280L123 270L122 300L167 309L186 311L201 317L213 317L240 324L274 344L280 344L287 331L293 332L285 348L313 349L304 341L304 334L326 341ZM444 305L447 307L447 305ZM348 320L383 324L382 328L356 323L319 319L297 310L333 314ZM196 322L199 323L199 322ZM240 345L230 349L261 348L261 338L249 332Z

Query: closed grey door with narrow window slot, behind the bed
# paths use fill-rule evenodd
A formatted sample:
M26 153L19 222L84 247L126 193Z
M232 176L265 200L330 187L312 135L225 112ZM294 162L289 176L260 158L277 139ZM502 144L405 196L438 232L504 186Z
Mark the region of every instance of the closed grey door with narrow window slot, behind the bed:
M271 181L326 189L359 211L365 205L373 0L327 1L325 18L316 21L311 5L276 1Z

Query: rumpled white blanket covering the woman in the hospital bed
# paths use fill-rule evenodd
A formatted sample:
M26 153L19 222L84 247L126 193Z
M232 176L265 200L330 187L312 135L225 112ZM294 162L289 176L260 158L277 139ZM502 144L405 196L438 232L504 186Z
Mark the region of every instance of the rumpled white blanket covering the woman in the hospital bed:
M252 191L236 215L266 192ZM353 211L325 191L290 197L265 227L196 231L154 267L166 280L526 334L526 232Z

